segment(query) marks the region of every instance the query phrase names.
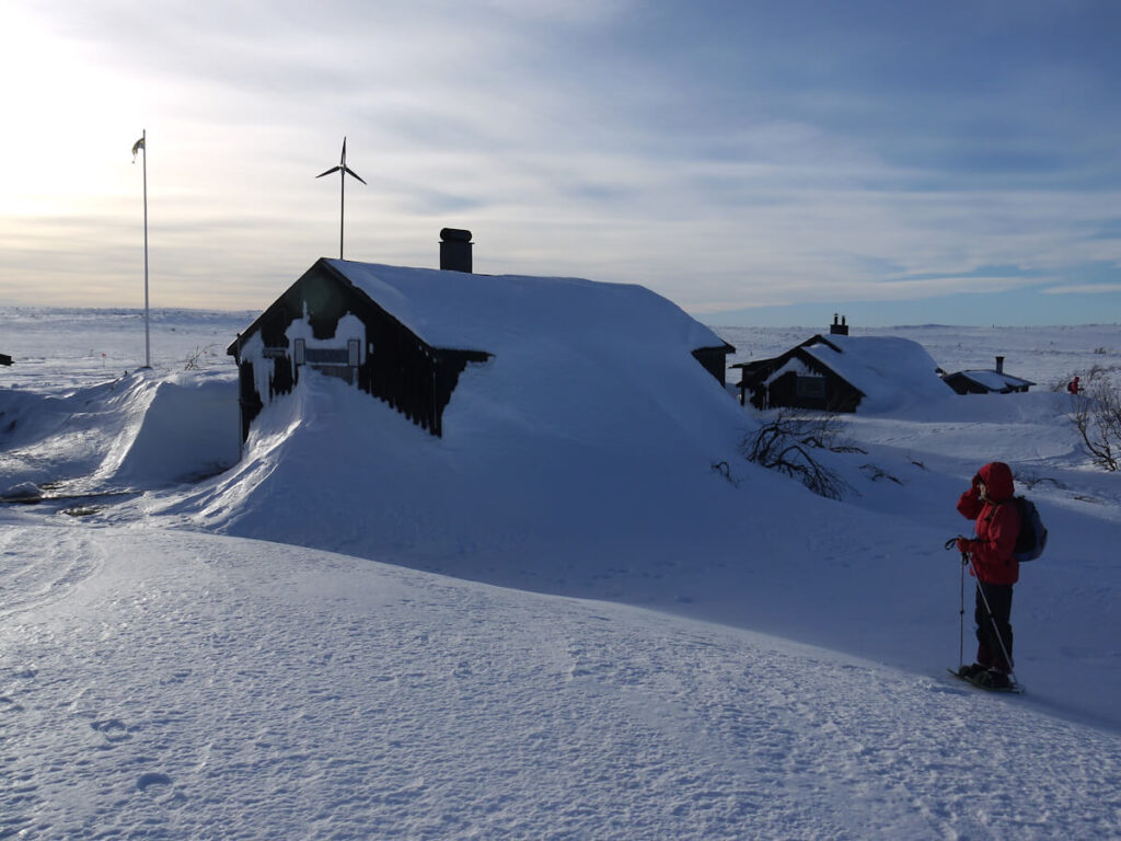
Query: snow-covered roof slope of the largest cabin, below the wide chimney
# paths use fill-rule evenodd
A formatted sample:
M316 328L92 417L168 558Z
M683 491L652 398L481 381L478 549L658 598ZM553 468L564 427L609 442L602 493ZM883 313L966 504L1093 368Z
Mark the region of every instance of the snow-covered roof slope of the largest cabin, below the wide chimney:
M324 262L436 348L501 353L527 341L605 339L688 351L724 345L676 304L634 284Z

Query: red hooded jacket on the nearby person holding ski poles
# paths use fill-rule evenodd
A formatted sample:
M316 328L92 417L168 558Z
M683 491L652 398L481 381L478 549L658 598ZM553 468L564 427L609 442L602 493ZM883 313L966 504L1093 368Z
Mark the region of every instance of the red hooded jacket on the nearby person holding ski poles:
M963 517L976 520L973 561L978 577L985 584L1015 584L1020 580L1020 562L1012 557L1020 533L1020 512L1016 510L1012 469L994 461L978 471L988 489L981 500L976 482L957 500Z

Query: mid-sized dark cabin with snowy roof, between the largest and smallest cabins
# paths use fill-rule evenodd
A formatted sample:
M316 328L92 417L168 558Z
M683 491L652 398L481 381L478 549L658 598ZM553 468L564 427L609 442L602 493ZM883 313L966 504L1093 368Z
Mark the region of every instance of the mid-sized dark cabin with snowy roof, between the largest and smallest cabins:
M771 359L740 362L740 403L760 409L856 412L952 392L926 350L909 339L850 336L847 325ZM750 394L750 397L748 395Z

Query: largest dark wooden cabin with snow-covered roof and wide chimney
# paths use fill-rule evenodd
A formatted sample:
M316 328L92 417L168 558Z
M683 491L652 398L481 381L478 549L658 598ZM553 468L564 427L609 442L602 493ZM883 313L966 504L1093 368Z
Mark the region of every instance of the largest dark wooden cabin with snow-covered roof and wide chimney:
M448 241L462 246L463 237ZM441 436L461 375L506 352L513 325L522 332L528 325L534 353L582 336L610 336L617 325L627 335L646 331L639 334L652 341L685 342L724 386L735 349L645 287L475 275L462 255L456 265L436 270L317 260L228 349L239 370L242 441L261 409L290 392L308 369L383 400Z

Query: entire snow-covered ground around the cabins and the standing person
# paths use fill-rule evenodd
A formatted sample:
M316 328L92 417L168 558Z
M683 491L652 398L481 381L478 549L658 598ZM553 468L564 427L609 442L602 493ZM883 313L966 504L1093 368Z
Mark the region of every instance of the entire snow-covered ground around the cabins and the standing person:
M1121 487L1049 390L1121 327L854 327L1041 387L847 418L834 502L642 359L578 426L469 369L439 440L305 377L239 461L253 315L156 313L137 372L136 313L0 309L0 492L57 498L0 507L0 838L1121 835ZM1050 529L1020 696L945 673L994 459Z

